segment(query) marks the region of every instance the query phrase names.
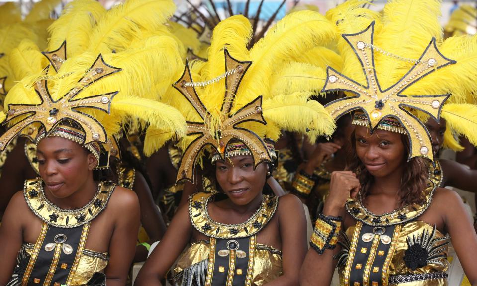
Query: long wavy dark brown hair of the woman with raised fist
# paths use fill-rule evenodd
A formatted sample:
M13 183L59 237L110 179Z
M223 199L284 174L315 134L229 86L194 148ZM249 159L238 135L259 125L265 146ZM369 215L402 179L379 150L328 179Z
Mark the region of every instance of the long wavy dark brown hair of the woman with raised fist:
M351 163L347 168L348 170L355 171L358 174L358 179L361 183L361 194L363 198L370 193L370 188L374 182L374 176L366 170L363 162L356 154L356 133L353 131L351 134ZM410 145L409 139L406 134L401 135L401 142L404 145L404 153L402 160L405 164L404 171L401 178L401 184L399 188L399 205L409 205L412 203L423 204L425 202L424 189L427 187L427 172L428 166L425 159L421 157L413 158L407 161Z

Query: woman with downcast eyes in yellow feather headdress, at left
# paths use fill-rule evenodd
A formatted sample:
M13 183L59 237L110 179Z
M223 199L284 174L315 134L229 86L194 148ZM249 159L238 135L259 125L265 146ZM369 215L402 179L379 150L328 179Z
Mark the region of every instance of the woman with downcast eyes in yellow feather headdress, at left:
M26 133L37 145L41 178L25 181L5 211L0 284L125 285L139 227L138 199L110 181L99 182L93 170L107 166L112 136L131 117L185 135L179 111L138 96L156 96L164 80L158 74L174 74L181 64L175 40L141 38L138 32L148 22L123 16L144 12L138 5L157 12L164 4L174 9L166 0L116 6L91 30L87 44L74 46L79 52L68 54L63 45L61 58L50 53L52 65L27 73L8 93L9 128L0 149L22 131L37 130ZM121 36L108 34L118 31ZM41 57L36 50L31 60Z

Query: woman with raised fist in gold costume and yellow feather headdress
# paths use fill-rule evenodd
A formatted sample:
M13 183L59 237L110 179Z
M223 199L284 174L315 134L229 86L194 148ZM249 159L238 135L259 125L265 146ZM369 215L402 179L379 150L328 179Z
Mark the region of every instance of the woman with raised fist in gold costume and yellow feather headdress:
M475 136L474 109L457 114L454 103L476 88L475 44L441 41L437 0L392 1L382 16L363 3L327 13L342 34L344 63L341 72L327 68L322 91L349 95L325 107L334 118L354 112L354 154L350 171L331 176L301 285L329 285L338 267L345 286L446 286L449 240L477 285L472 220L455 192L428 178L426 160L436 154L423 123L443 117L452 131Z

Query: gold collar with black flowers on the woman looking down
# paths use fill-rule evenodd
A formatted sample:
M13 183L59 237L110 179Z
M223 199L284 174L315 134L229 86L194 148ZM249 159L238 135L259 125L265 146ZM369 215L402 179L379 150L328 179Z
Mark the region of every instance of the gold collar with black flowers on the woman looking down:
M101 213L115 187L116 184L109 181L99 183L95 196L80 209L61 209L51 203L45 196L41 178L26 180L23 194L31 211L41 220L56 227L74 228L90 222Z

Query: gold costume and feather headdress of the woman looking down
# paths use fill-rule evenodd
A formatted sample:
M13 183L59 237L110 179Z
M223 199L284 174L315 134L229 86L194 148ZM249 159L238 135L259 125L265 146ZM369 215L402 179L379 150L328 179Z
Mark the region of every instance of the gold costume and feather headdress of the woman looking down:
M171 75L180 67L177 44L166 35L140 37L151 25L162 25L173 11L172 1L165 0L130 0L107 12L95 1L68 4L57 20L63 23L50 27L57 29L50 45L59 48L44 54L38 48L23 49L29 62L17 66L25 70L24 77L5 98L3 124L8 130L0 137L0 150L17 135L29 136L35 144L59 136L91 152L96 168L107 168L111 138L129 117L183 136L186 124L179 111L145 98L157 96L161 81L168 80L158 75L163 72L158 67ZM145 14L149 22L141 20ZM71 49L66 49L67 43ZM51 64L46 68L41 66L45 56ZM54 205L43 188L40 178L25 182L25 200L41 219L42 230L36 243L23 243L8 286L105 285L108 254L86 249L85 244L90 224L107 207L115 184L99 183L91 201L74 210Z

